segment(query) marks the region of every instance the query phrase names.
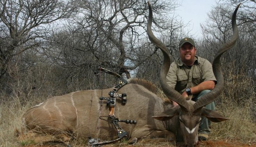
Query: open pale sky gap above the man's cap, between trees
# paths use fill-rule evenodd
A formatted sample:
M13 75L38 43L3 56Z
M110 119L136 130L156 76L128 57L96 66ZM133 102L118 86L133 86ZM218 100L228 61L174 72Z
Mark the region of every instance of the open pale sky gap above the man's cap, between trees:
M202 36L200 23L207 20L207 14L214 5L215 0L183 0L182 5L178 7L177 12L184 24L190 21L190 34L194 37Z

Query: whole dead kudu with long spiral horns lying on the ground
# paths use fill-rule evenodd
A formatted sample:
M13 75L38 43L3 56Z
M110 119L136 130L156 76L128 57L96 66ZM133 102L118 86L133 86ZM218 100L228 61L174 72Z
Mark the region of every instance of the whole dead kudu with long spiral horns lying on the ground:
M155 87L151 83L140 79L128 80L128 84L118 91L118 93L127 94L127 103L123 106L121 100L117 99L114 115L122 119L137 120L136 125L120 123L123 130L128 133L129 143L134 143L138 138L145 137L159 137L171 141L175 139L176 135L176 138L183 139L187 146L195 146L201 116L206 116L213 122L228 119L215 111L205 109L204 106L214 101L223 89L220 57L234 45L238 37L235 21L237 9L232 17L234 36L223 45L214 58L213 70L218 84L213 91L194 103L190 100L186 101L166 84L165 78L170 67L170 56L166 46L152 34L152 10L149 5L147 33L150 41L156 44L164 55L160 73L161 86L164 94L179 106L172 108L170 103L166 103L158 97ZM112 139L116 136L113 124L99 119L100 116L109 115L109 108L105 105L101 106L99 97L107 97L111 90L76 91L47 99L24 113L21 132L16 129L16 135L20 141L33 140L35 143L54 140L68 142L71 135L83 138L90 136L105 140ZM163 115L159 115L161 112L164 112ZM153 119L152 116L158 120Z

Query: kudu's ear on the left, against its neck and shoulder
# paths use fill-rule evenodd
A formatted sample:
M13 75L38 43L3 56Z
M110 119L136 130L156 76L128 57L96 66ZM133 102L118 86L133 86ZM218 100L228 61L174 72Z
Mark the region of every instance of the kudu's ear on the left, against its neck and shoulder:
M152 117L154 119L161 120L161 121L170 120L171 118L173 118L173 116L179 115L179 110L180 110L180 106L175 106L171 109L164 111L160 115L152 116Z

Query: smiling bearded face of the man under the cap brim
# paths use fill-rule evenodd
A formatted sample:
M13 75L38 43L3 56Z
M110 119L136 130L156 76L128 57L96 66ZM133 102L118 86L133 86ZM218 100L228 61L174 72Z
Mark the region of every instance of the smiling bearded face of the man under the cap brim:
M192 65L194 63L195 53L195 46L190 43L184 43L183 46L180 48L180 58L182 59L182 62L186 65Z

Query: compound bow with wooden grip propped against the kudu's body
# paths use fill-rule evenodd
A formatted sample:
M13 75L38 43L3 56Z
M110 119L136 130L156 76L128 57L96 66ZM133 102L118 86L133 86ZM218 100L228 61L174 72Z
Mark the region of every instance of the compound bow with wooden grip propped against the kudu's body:
M136 120L119 120L118 118L116 118L114 116L114 108L116 107L116 98L119 97L121 98L121 102L122 104L126 104L126 101L127 101L127 95L125 93L123 94L118 94L116 93L118 91L118 89L120 89L121 87L123 87L125 84L127 84L127 81L121 77L120 75L118 75L117 73L114 73L114 72L111 72L105 68L98 68L97 69L97 72L100 72L100 71L103 71L103 72L106 72L106 73L109 73L111 75L114 75L116 77L118 77L120 79L118 85L116 85L113 89L113 91L110 91L109 92L109 96L110 97L100 97L99 99L100 100L106 100L107 101L107 106L109 107L109 116L100 116L100 119L101 120L106 120L104 119L103 117L107 117L107 122L109 123L113 123L116 130L117 130L117 133L118 133L118 138L115 139L115 140L110 140L110 141L102 141L100 142L99 139L97 138L89 138L89 142L88 142L88 145L89 146L99 146L99 145L105 145L105 144L111 144L111 143L114 143L118 140L121 140L123 137L125 137L127 135L127 132L125 130L123 130L121 128L121 126L118 124L118 122L125 122L125 123L130 123L130 124L137 124L137 121ZM96 72L95 72L96 73Z

